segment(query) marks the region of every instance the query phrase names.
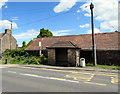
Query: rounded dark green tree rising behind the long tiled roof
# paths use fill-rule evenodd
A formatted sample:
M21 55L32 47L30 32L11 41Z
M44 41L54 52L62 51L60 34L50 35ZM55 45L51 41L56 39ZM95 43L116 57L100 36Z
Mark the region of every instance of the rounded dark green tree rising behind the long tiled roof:
M40 29L40 33L37 36L37 38L52 37L52 36L53 36L53 34L52 34L52 32L50 30L42 28L42 29Z

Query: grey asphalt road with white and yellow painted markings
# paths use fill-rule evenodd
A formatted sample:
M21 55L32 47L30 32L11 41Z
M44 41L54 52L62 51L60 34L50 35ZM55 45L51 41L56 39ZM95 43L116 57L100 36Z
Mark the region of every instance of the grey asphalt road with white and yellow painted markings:
M2 92L118 92L116 73L2 66Z

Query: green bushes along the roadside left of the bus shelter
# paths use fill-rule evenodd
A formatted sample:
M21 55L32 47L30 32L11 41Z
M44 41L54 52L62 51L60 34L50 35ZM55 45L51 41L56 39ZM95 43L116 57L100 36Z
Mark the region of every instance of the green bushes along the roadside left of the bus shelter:
M47 58L42 54L39 57L29 56L27 52L22 49L19 50L6 50L4 52L4 58L2 62L5 63L5 60L8 60L10 64L46 64Z

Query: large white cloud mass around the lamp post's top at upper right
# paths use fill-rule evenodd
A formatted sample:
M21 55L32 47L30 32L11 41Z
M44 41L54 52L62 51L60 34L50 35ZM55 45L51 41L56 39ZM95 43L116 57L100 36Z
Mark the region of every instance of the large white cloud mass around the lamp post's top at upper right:
M101 30L118 30L118 0L94 0L93 4L94 17L97 21L101 21ZM82 11L86 11L84 16L90 16L89 6L90 1L80 7Z

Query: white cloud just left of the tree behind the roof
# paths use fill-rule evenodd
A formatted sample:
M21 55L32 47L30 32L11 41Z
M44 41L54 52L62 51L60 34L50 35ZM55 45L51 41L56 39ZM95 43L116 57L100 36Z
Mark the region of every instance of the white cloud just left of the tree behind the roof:
M28 30L25 33L21 33L21 34L15 34L13 35L16 39L33 39L35 37L37 37L37 35L39 34L39 31L36 31L34 29Z

